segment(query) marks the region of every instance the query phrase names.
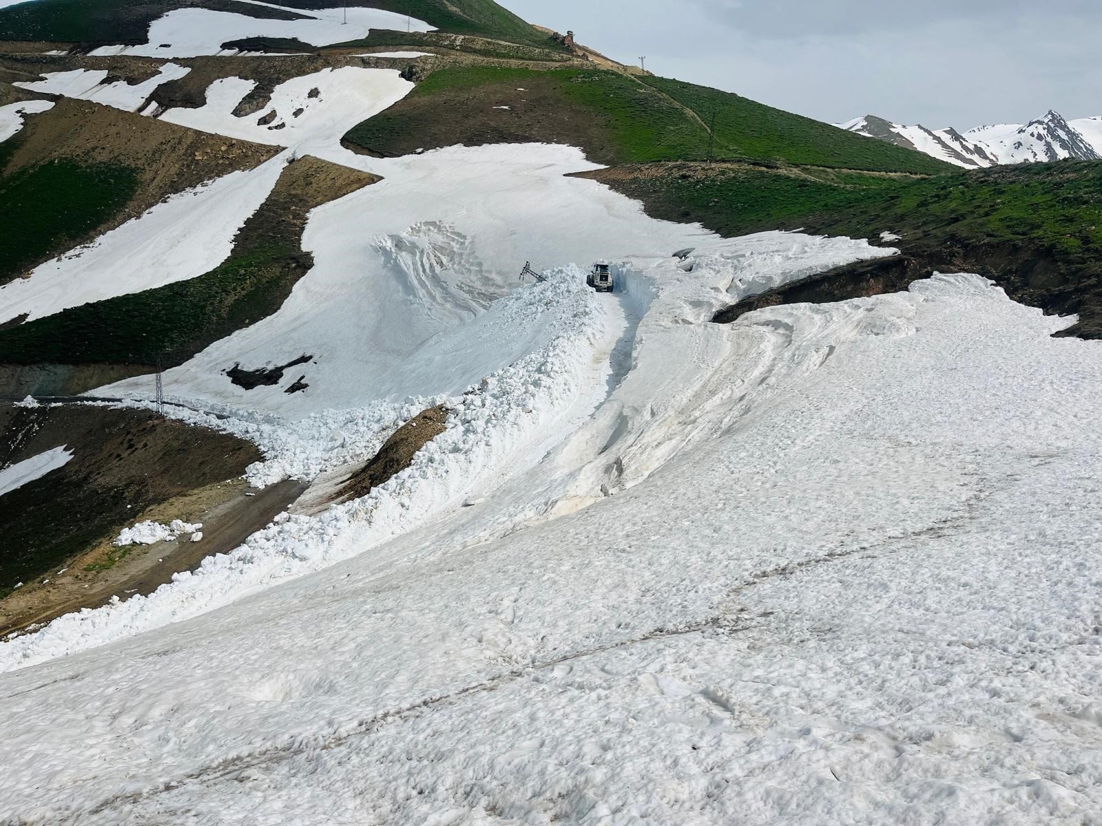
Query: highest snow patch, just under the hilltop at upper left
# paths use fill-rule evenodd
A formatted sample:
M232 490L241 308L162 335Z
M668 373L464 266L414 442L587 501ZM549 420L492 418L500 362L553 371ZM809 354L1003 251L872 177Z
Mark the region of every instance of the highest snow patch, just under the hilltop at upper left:
M222 44L248 37L295 39L314 46L367 37L372 29L429 32L428 23L380 9L292 9L256 3L302 15L301 20L268 20L210 9L173 9L154 20L148 42L139 46L102 46L93 56L199 57L224 52ZM344 22L347 14L347 24Z

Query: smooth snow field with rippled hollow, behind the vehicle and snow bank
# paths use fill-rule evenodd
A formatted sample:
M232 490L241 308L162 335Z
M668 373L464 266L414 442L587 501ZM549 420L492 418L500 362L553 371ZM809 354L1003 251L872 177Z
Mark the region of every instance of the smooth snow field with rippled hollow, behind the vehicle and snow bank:
M564 177L592 169L572 148L456 146L388 161L348 154L383 181L315 209L303 237L314 268L283 306L166 371L166 393L191 406L291 420L458 393L545 344L541 327L483 317L495 298L528 289L518 281L525 261L538 269L609 254L653 261L720 241L696 226L651 220L596 182ZM311 362L273 387L246 391L223 374L236 362L253 369L303 355ZM283 392L300 376L310 388ZM134 379L97 393L148 398L148 385Z

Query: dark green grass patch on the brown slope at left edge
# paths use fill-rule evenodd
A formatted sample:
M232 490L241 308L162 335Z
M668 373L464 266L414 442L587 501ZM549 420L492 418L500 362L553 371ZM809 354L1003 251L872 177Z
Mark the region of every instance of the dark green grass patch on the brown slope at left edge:
M9 141L10 143L11 141ZM13 148L7 151L12 151ZM0 156L0 163L7 160ZM61 157L0 177L0 283L115 218L138 191L137 170Z

